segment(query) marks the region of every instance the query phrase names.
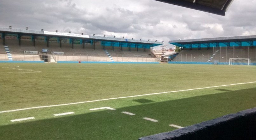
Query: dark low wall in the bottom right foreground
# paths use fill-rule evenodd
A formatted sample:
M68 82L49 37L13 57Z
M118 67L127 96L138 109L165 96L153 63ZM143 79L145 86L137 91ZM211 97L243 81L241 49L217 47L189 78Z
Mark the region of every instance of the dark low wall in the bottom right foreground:
M256 108L139 140L255 140Z

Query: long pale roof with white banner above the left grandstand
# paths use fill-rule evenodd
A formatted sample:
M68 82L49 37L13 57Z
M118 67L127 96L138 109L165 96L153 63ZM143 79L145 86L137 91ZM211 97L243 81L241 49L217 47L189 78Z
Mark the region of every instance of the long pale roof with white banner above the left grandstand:
M125 39L125 38L101 37L101 36L82 35L82 34L74 34L74 33L59 33L59 32L26 30L26 29L17 29L17 28L6 28L6 27L0 27L0 33L14 33L14 34L21 34L21 35L99 40L99 41L109 41L109 42L124 42L124 43L134 43L134 44L147 44L151 46L163 45L163 42L158 42L158 41L133 40L133 39Z

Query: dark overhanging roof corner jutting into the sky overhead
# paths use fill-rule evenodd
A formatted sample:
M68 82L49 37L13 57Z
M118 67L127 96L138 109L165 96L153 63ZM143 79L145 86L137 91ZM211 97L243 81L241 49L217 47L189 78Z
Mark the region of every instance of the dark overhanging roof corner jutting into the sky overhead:
M217 15L225 15L233 0L156 0L186 8L205 11Z

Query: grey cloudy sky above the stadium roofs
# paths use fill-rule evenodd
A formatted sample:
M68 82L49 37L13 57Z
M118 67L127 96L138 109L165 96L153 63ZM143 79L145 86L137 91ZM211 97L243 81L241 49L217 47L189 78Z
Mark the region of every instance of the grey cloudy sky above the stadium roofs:
M234 0L226 16L154 0L0 0L0 27L143 40L256 34L256 0Z

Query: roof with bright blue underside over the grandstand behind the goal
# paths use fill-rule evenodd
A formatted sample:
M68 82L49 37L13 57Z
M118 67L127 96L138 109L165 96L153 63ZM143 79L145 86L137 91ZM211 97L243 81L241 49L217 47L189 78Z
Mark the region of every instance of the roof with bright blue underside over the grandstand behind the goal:
M256 35L218 37L192 40L172 40L170 44L183 48L256 46Z

